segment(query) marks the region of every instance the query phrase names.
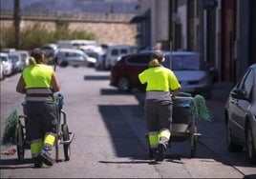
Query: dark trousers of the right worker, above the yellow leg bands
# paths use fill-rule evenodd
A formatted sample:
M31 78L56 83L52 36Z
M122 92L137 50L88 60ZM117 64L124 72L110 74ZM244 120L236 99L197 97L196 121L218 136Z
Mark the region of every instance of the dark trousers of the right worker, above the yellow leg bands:
M171 130L173 109L171 101L146 99L144 109L149 132L160 131L161 129Z

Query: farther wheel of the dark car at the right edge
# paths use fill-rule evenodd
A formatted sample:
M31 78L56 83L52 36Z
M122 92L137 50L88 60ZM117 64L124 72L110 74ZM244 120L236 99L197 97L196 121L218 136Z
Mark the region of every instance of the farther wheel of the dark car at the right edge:
M233 142L231 129L229 127L229 121L226 122L226 147L229 152L241 152L243 151L243 146L237 145Z

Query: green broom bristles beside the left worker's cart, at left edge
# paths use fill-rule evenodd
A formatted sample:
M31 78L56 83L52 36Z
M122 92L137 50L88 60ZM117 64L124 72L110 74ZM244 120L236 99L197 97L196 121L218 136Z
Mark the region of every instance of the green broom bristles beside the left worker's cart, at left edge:
M2 145L16 144L16 126L18 119L17 110L12 109L10 115L6 119L5 130L2 136Z

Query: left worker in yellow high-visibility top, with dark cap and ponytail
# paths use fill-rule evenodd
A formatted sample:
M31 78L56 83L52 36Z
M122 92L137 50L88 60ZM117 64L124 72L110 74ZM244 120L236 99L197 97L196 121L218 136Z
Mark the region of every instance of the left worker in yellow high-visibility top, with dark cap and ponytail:
M30 134L34 167L53 166L51 157L57 125L57 111L53 92L59 91L59 82L51 66L45 63L44 51L34 49L30 65L19 78L16 91L26 94L26 129Z

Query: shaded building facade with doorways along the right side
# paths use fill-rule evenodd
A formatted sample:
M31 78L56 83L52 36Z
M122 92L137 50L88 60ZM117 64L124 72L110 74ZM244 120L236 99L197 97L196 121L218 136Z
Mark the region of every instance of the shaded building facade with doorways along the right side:
M237 82L256 62L255 0L139 0L140 49L192 50Z

